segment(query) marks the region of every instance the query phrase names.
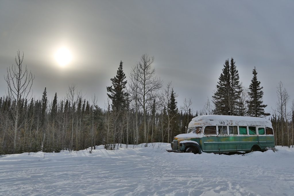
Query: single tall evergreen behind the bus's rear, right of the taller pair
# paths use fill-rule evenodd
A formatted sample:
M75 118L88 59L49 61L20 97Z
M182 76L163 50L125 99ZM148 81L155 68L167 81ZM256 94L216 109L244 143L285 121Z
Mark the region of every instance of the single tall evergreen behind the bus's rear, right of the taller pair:
M249 86L249 100L247 100L248 104L248 115L249 116L255 116L255 117L261 117L261 116L268 116L269 113L264 112L264 108L267 105L263 104L263 87L260 87L260 81L257 80L257 72L256 68L254 67L253 71L253 78L251 80L251 84Z

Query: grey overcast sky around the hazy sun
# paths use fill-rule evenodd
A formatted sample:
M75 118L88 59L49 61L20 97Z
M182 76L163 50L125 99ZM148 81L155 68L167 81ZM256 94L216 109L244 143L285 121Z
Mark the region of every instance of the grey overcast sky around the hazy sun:
M106 86L120 61L127 79L142 54L154 56L156 75L172 81L178 106L192 98L193 111L211 99L227 58L249 87L256 66L267 112L282 81L294 98L294 1L3 1L0 0L0 96L16 51L35 75L33 97L44 88L51 100L68 86L104 108ZM66 47L71 62L54 55ZM290 103L289 101L289 107Z

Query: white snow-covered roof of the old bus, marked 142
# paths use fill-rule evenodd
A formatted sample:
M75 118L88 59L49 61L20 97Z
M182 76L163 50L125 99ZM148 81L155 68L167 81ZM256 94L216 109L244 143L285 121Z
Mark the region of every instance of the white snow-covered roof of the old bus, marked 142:
M201 115L193 118L189 123L189 127L215 125L265 126L273 128L270 120L248 116Z

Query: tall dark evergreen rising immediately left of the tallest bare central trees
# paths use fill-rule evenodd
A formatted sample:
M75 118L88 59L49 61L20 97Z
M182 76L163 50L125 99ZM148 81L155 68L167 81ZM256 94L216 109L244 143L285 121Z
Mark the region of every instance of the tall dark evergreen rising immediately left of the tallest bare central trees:
M107 92L109 92L109 94L107 93L107 95L112 100L113 110L120 110L124 106L124 100L126 96L126 92L124 92L124 89L126 88L127 83L125 79L126 76L125 73L123 73L123 62L121 61L116 76L110 79L112 85L106 87Z

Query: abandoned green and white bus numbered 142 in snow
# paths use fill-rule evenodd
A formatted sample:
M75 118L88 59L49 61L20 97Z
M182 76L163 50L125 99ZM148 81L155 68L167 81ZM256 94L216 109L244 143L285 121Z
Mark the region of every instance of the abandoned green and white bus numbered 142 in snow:
M273 127L265 118L202 115L191 120L186 134L174 137L172 150L186 153L230 153L275 150Z

